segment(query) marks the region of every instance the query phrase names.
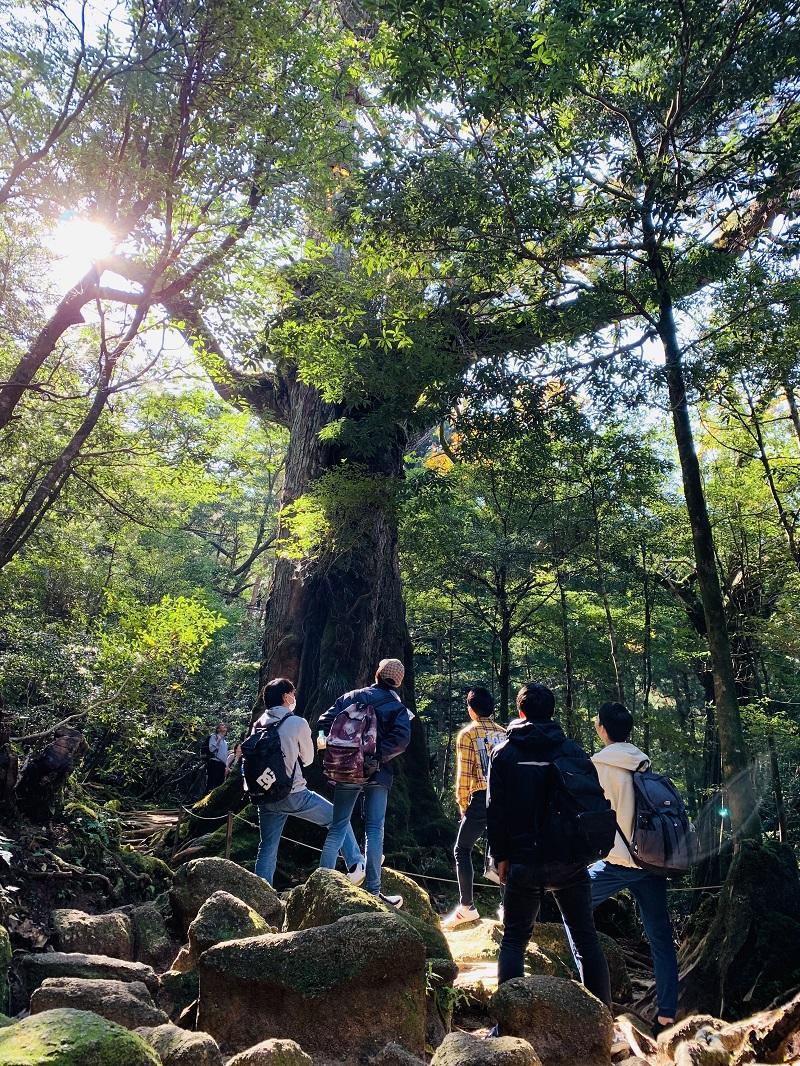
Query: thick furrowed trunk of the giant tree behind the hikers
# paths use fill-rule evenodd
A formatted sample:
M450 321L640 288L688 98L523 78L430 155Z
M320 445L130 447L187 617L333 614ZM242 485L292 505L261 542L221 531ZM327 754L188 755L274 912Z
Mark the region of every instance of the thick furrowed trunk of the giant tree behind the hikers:
M319 437L322 426L336 417L334 408L298 382L289 383L289 395L284 505L306 492L342 458ZM398 437L370 464L369 472L400 478L402 457ZM298 685L298 705L314 727L320 712L342 692L370 683L375 666L386 657L404 662L401 695L416 713L413 648L391 499L382 506L365 506L357 536L340 553L331 552L302 567L278 559L265 613L261 685L272 677L291 678ZM431 781L425 729L418 717L398 770L389 826L394 824L396 834L420 843L443 842L447 826Z

